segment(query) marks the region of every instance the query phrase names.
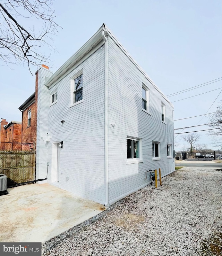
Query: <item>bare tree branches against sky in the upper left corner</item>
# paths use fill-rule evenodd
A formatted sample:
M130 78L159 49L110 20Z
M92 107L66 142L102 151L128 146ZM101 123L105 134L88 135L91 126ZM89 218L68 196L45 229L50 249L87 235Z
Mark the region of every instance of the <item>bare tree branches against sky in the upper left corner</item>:
M52 0L2 0L0 3L0 60L39 65L50 55L41 53L57 26L53 21ZM36 23L35 23L36 22ZM31 28L32 27L32 28Z

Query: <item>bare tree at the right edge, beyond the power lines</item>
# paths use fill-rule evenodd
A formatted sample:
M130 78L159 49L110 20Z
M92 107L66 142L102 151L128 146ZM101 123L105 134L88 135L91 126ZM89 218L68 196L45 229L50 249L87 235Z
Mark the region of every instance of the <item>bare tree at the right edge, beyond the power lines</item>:
M215 130L211 130L208 133L213 136L214 144L218 147L222 146L222 100L217 106L216 113L213 113L209 116L208 126L216 128Z

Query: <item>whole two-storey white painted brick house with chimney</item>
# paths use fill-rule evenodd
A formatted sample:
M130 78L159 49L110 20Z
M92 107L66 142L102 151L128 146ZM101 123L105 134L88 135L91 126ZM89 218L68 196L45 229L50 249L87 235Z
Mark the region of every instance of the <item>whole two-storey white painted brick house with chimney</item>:
M102 26L54 74L39 69L36 149L36 179L110 205L174 170L173 106Z

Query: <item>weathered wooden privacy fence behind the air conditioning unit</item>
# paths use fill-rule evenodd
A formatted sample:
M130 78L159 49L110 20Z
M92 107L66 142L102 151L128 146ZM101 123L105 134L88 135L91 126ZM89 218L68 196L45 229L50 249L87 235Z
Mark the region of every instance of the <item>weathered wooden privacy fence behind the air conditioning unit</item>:
M7 187L35 180L35 153L0 153L0 173L7 176Z

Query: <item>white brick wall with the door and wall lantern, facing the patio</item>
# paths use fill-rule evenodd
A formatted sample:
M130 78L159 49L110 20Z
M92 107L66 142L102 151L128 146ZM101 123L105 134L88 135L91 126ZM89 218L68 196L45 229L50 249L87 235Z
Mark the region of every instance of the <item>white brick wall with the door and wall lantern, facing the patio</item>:
M63 148L59 149L59 187L99 203L105 201L104 56L103 45L45 93L50 142L48 146L41 143L41 150L48 148L48 158L44 156L40 161L46 167L47 161L50 162L48 182L52 183L52 143L63 141ZM83 70L83 103L70 107L71 77L80 70ZM55 90L57 103L49 107L50 93Z

